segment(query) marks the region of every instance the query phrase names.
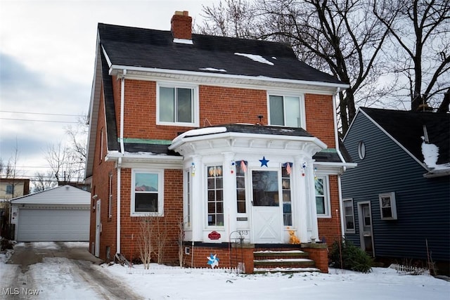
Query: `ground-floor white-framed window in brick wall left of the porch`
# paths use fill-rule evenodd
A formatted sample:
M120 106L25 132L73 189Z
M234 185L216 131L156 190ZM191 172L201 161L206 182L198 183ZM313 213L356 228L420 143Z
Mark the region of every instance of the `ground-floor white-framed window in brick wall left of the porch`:
M163 182L163 171L133 171L131 215L162 216Z

